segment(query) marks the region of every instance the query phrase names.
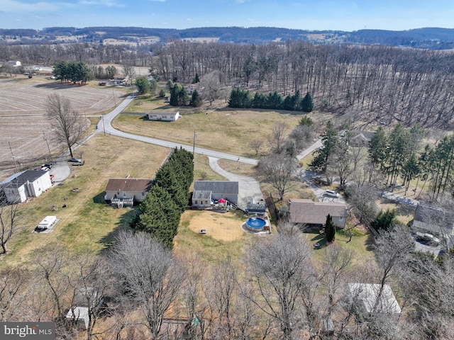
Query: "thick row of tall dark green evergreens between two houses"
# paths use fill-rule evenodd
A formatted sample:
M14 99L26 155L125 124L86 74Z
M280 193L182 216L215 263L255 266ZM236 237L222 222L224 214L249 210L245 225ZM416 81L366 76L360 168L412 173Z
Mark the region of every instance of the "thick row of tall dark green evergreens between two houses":
M172 248L179 219L189 203L189 187L194 180L193 155L175 148L156 172L150 191L140 202L131 222L137 231L148 232L167 248Z

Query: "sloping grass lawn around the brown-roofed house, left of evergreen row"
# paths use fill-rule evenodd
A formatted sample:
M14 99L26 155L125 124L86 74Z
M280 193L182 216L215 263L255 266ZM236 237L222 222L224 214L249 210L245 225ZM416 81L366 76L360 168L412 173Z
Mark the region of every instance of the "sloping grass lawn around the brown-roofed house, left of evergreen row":
M33 256L49 244L63 246L70 253L96 254L104 249L116 230L128 225L132 214L131 208L114 209L104 203L107 181L126 176L153 178L169 152L164 147L118 137L92 137L75 152L85 160L84 166L72 166L70 177L62 186L54 186L21 204L23 229L9 242L11 252L2 258L0 266L31 263ZM51 211L52 205L58 210ZM46 215L60 219L55 230L33 233Z

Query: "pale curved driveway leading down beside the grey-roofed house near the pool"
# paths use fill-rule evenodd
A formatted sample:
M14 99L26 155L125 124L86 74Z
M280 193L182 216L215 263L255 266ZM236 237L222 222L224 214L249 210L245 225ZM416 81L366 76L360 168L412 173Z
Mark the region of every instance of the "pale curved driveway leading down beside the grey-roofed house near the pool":
M209 164L213 171L216 171L221 176L226 177L229 181L238 182L238 207L245 210L248 207L248 202L253 200L258 202L263 199L262 191L260 191L260 185L256 179L248 176L241 176L232 174L221 168L218 164L218 158L208 157Z

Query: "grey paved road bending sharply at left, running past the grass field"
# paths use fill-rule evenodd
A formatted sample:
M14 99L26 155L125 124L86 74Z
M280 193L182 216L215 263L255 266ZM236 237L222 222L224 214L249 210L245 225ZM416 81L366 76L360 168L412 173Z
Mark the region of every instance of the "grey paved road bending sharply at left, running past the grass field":
M160 145L161 147L171 147L171 148L182 147L183 149L186 149L190 152L193 151L193 149L194 149L193 145L184 145L181 143L168 142L166 140L157 140L155 138L133 135L132 133L122 132L120 130L116 130L115 128L113 128L111 125L112 120L114 120L116 115L121 113L121 111L123 111L126 108L126 106L128 106L129 103L131 103L131 101L133 101L133 99L134 99L134 94L131 94L122 103L120 103L116 108L114 108L113 111L111 111L107 115L104 115L104 117L99 120L98 130L96 130L96 132L97 133L106 132L109 135L123 137L123 138L129 138L130 140L139 140L140 142L146 142L146 143L150 143L150 144L154 144L154 145ZM205 156L214 157L214 158L218 158L218 159L221 159L221 158L230 159L231 161L238 161L241 163L252 164L252 165L258 164L257 159L239 157L238 155L235 155L235 154L227 154L226 152L218 152L218 151L214 151L214 150L204 149L201 147L195 147L194 152L196 154L204 154Z

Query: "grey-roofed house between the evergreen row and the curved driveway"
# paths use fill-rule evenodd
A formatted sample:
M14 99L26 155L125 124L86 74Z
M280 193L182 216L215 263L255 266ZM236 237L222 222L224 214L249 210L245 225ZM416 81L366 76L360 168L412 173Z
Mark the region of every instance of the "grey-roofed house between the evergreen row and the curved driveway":
M238 182L231 181L194 181L192 207L206 208L216 201L226 200L238 204Z

